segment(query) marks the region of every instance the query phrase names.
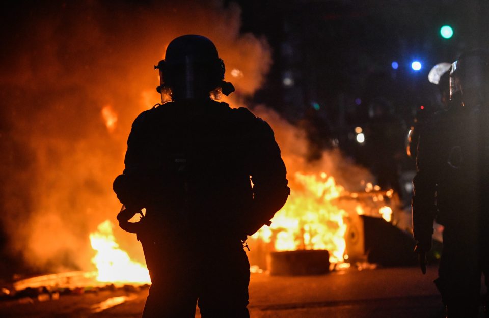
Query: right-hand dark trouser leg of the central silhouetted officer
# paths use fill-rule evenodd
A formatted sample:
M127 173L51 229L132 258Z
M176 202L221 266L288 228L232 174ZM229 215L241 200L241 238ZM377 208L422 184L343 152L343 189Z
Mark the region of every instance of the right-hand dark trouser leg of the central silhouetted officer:
M213 246L202 264L198 303L202 318L249 318L250 263L241 243Z

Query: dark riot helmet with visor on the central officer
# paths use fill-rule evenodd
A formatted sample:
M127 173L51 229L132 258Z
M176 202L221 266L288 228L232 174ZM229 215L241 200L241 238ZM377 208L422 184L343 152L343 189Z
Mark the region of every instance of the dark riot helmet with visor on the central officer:
M183 35L170 42L165 60L159 61L161 101L213 98L229 95L234 86L224 81L225 66L218 50L208 38Z

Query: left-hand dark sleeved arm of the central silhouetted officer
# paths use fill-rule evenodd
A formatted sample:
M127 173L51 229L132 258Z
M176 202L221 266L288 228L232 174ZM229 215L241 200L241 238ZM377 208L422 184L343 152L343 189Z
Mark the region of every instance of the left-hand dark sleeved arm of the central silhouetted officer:
M122 175L114 180L114 192L128 209L141 209L145 203L148 177L146 161L149 153L149 132L146 123L148 115L149 111L145 111L134 120L127 140L125 169Z

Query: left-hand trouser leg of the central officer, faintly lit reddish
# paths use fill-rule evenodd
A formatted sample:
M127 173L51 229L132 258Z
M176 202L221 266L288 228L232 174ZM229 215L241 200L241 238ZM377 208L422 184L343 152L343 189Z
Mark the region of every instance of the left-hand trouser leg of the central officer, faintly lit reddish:
M141 243L152 281L143 318L194 318L196 275L185 250L148 238Z

